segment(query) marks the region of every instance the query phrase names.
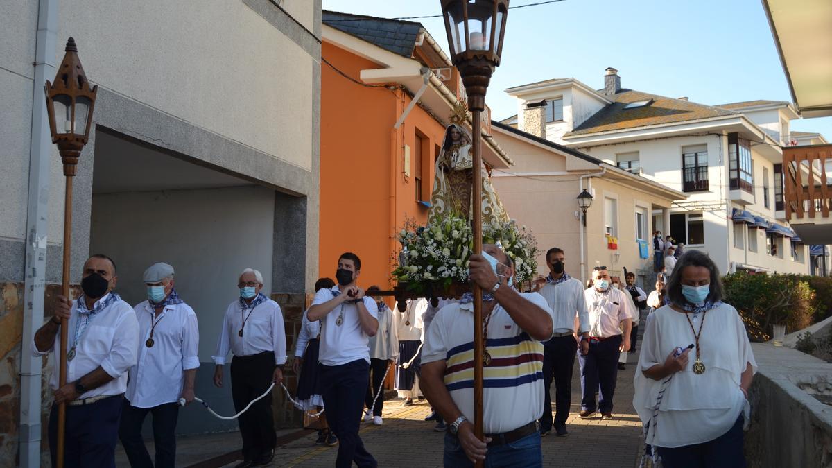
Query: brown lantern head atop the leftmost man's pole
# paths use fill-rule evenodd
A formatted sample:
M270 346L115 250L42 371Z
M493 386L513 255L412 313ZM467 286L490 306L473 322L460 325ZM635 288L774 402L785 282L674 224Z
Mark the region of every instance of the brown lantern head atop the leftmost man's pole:
M52 142L57 143L61 153L64 175L74 176L78 157L90 137L98 86L90 87L72 37L67 41L66 52L55 81L47 80L44 89Z

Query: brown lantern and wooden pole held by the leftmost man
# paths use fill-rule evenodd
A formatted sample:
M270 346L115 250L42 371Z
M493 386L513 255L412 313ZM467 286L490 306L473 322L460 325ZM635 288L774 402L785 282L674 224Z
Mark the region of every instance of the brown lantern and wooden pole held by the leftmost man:
M47 95L47 114L52 143L57 144L63 162L66 179L63 202L63 267L61 294L67 299L69 293L69 269L72 253L72 180L75 177L78 157L90 135L92 109L96 102L98 87L90 87L87 75L78 58L78 47L72 37L67 41L66 54L58 67L55 82L44 87ZM60 118L60 121L57 119ZM80 126L80 127L79 127ZM61 346L58 361L58 388L67 385L67 319L61 319ZM57 467L63 468L66 441L67 406L57 406Z

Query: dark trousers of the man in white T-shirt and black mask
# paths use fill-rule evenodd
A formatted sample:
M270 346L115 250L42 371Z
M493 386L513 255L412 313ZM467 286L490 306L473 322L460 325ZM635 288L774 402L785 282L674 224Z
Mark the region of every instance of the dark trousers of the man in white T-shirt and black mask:
M369 381L369 364L363 359L340 366L321 364L319 372L326 421L329 429L338 436L335 466L349 468L353 466L353 461L359 468L379 466L359 437L361 407Z

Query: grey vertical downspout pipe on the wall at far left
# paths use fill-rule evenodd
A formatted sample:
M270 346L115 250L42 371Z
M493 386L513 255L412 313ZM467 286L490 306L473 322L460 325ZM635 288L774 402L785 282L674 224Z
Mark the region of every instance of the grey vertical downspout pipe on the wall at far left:
M55 76L57 0L40 0L37 7L35 78L32 84L32 134L29 141L29 186L26 221L26 266L23 289L23 333L20 370L20 466L41 466L41 358L29 343L43 324L46 294L47 217L52 136L43 85ZM68 246L64 246L68 248Z

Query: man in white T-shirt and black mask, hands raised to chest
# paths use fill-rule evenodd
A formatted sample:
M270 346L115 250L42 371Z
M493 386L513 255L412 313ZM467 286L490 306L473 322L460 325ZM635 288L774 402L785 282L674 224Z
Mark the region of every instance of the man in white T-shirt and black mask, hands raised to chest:
M379 329L378 306L355 286L360 274L357 255L345 252L339 256L338 286L316 292L306 312L310 321L321 321L320 389L329 428L339 440L335 460L339 468L352 466L353 461L359 468L379 465L359 437L369 383L369 337Z

